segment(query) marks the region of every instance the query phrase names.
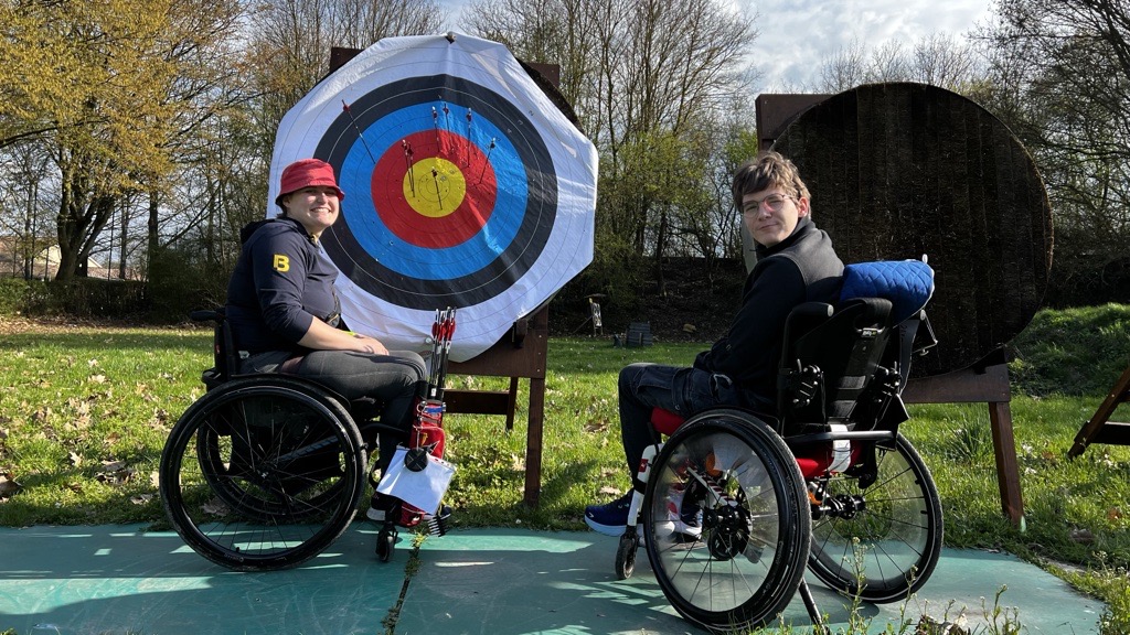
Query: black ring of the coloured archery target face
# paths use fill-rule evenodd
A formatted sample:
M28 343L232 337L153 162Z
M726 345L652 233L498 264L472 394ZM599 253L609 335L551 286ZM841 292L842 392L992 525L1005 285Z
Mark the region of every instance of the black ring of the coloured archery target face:
M341 174L349 149L363 141L364 133L358 133L358 129L364 131L390 113L436 98L469 106L476 116L486 116L499 130L505 130L507 140L518 150L529 192L522 223L511 244L473 273L447 280L423 280L381 264L357 243L345 215L322 241L338 270L364 290L406 308L428 311L436 306L480 304L512 287L541 255L557 211L553 158L533 124L494 90L449 75L401 79L367 93L350 104L353 115L342 112L333 120L314 156ZM462 103L462 98L470 104ZM383 148L371 149L383 151Z

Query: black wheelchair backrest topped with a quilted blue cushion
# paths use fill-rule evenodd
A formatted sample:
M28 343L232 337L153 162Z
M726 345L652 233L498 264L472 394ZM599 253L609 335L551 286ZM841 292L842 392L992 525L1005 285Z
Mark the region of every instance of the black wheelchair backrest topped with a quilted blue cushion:
M933 271L923 261L859 263L844 269L836 306L793 310L777 383L782 433L829 423L878 426L905 384L911 345L932 293Z

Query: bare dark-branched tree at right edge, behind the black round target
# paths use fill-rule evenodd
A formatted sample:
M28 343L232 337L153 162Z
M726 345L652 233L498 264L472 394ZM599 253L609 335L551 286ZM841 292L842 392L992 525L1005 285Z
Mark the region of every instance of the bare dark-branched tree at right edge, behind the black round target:
M1130 7L1001 0L977 36L982 98L1032 150L1055 211L1055 284L1094 287L1130 251Z

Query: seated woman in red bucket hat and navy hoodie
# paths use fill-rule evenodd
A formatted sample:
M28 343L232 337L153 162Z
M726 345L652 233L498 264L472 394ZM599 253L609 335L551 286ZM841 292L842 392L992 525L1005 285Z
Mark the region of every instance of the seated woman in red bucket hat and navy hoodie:
M350 400L372 398L381 405L381 421L407 435L416 395L425 386L424 359L347 330L333 289L338 270L319 245L344 199L333 166L297 160L282 169L275 199L281 215L241 230L243 251L226 306L240 372L301 375ZM399 441L382 433L380 445L395 447ZM391 458L392 452L382 452L377 467L383 471ZM382 514L371 511L371 517L376 515Z

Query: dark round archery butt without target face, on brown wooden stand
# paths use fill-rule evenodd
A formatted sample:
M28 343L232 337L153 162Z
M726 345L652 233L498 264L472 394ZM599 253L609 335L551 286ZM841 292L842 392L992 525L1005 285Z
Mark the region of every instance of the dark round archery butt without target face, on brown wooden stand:
M756 107L760 147L798 165L844 262L929 255L940 343L903 399L986 405L1001 510L1023 529L1002 343L1038 308L1051 268L1051 208L1027 153L983 108L927 85L760 95Z

